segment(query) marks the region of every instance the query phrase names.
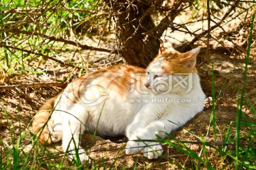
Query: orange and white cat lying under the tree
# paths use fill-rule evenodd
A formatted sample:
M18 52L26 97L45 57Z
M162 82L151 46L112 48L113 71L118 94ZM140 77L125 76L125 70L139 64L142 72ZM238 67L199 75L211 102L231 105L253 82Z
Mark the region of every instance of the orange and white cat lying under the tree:
M156 159L163 152L156 135L166 137L203 110L206 96L195 67L199 51L169 49L146 69L114 65L79 77L39 109L32 132L43 144L62 140L70 160L79 148L82 163L90 163L80 147L83 132L126 135L126 154Z

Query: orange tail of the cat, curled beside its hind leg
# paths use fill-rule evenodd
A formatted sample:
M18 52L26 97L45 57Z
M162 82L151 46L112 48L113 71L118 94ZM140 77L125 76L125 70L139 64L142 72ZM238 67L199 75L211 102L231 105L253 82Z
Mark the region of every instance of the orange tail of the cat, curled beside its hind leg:
M53 112L53 107L58 96L50 98L46 103L39 108L39 111L33 118L32 121L32 132L34 135L38 136L38 141L43 145L50 144L52 141L50 139L50 131L48 129L48 120L50 119L50 115Z

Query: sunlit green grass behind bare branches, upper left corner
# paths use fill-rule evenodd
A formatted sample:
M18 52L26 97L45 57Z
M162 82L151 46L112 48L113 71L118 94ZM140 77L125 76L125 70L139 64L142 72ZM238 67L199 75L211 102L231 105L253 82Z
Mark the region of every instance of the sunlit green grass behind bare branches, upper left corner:
M90 13L98 13L102 7L96 8L100 1L17 1L4 0L0 2L0 72L6 75L40 72L40 63L48 60L46 57L59 56L68 49L68 45L48 37L67 38L73 32L75 37L91 35L90 27L93 21L85 22ZM18 12L12 12L18 9ZM96 15L96 14L95 14ZM25 17L26 16L26 17ZM105 18L95 16L99 22ZM97 27L100 27L97 24ZM16 30L18 30L18 33ZM79 52L78 52L79 53ZM68 64L73 64L68 60ZM37 65L38 64L38 65ZM80 61L82 68L85 62ZM73 64L76 67L76 64Z

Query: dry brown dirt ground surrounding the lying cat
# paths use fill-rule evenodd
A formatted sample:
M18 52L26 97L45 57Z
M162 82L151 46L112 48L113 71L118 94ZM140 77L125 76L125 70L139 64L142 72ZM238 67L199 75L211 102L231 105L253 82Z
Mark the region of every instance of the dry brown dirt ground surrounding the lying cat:
M248 30L247 28L244 28ZM255 29L256 30L256 29ZM210 57L214 59L214 80L215 80L215 96L219 96L218 103L216 105L215 115L216 115L216 130L218 142L223 142L225 136L225 130L228 129L230 122L235 121L235 116L237 113L237 103L239 98L238 89L242 89L242 81L245 70L245 56L247 50L247 38L248 31L243 35L240 35L239 30L233 32L233 38L237 44L241 44L244 40L245 43L239 47L235 47L230 41L223 40L223 45L215 42L210 43ZM247 81L245 87L246 94L246 105L243 111L248 119L253 118L250 111L249 101L252 106L256 107L256 45L255 45L255 35L252 43L252 49L250 53L250 61L248 64ZM96 40L95 40L96 41ZM198 44L200 45L200 44ZM63 57L68 54L63 54ZM95 55L93 52L90 55ZM97 53L97 57L100 58L105 54ZM92 58L96 61L98 58ZM100 67L104 67L106 63L112 61L117 61L117 58L107 58L106 60L101 60L98 62ZM196 115L188 122L184 128L176 130L171 134L174 135L179 140L189 140L198 141L198 139L192 135L187 130L194 132L196 135L206 135L208 130L210 115L212 113L212 103L210 101L210 96L212 96L212 60L206 60L206 46L203 45L201 53L198 55L197 67L198 72L201 77L201 85L206 96L208 96L208 101L206 101L206 106L204 111ZM92 61L93 62L93 61ZM49 62L50 63L50 62ZM0 77L0 85L3 84L28 84L35 82L53 82L60 81L60 79L68 77L72 69L66 69L65 67L55 66L54 68L46 62L43 68L45 74L13 74L11 77ZM43 67L42 66L42 67ZM90 71L95 70L95 67L91 67ZM47 72L46 72L47 70ZM53 72L54 71L54 72ZM11 145L11 140L14 138L18 139L23 130L28 128L31 130L31 119L35 115L38 108L46 101L58 94L63 87L58 86L48 86L48 87L37 87L37 88L27 88L27 89L11 89L11 90L0 90L0 138L2 141ZM9 123L11 128L9 128L6 116L9 118ZM233 127L235 128L235 126ZM185 130L187 129L187 130ZM11 130L11 131L10 131ZM242 129L242 132L245 130ZM233 131L232 133L235 133ZM12 135L11 135L12 134ZM14 136L15 135L15 136ZM235 134L232 134L234 137ZM173 163L178 162L183 167L190 167L191 159L185 154L178 152L176 149L164 145L164 158L157 160L149 160L144 158L141 154L127 156L124 152L125 137L115 137L102 139L101 137L95 137L92 145L92 135L85 134L82 138L83 147L90 147L88 149L88 155L97 164L102 163L106 167L110 167L113 162L115 162L114 167L116 169L121 169L122 167L133 167L137 164L137 167L141 169L175 169L177 168ZM207 141L213 141L213 131L210 130L210 135ZM22 140L22 147L29 151L32 147L32 142L30 141L30 135ZM25 145L26 143L26 145ZM61 155L61 144L57 143L54 145L53 157L54 155ZM188 144L194 152L199 153L201 150L201 145L198 144ZM4 146L0 146L1 151L4 151ZM58 151L59 150L59 151ZM208 151L210 152L210 150ZM216 155L213 152L209 154L208 159L213 159L213 164L223 164L221 160L216 159ZM116 158L119 157L118 160ZM214 160L215 159L215 160ZM67 161L67 164L68 161ZM103 163L102 163L103 164ZM44 167L47 169L47 167Z

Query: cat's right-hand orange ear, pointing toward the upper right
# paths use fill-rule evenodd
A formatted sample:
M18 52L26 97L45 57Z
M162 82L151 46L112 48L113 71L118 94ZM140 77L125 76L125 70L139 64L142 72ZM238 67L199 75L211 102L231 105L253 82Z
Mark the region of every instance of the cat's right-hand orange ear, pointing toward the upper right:
M181 64L183 67L188 69L193 69L196 65L196 56L200 52L201 47L196 47L193 50L186 52L183 55L183 58L178 60L178 64Z

